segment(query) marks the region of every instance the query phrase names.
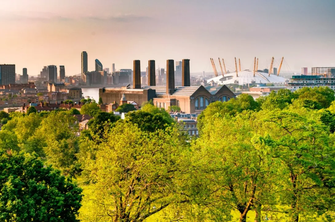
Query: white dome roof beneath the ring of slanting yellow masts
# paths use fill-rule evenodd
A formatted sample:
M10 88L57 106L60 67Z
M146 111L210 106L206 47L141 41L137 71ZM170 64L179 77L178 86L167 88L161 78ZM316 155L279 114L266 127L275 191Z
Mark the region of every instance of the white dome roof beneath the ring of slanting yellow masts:
M207 83L214 81L215 83L218 83L219 85L227 85L227 84L239 84L244 85L248 83L284 83L285 78L273 74L268 73L259 73L250 70L244 70L241 72L238 72L238 77L235 73L227 73L222 75L213 77L207 81Z

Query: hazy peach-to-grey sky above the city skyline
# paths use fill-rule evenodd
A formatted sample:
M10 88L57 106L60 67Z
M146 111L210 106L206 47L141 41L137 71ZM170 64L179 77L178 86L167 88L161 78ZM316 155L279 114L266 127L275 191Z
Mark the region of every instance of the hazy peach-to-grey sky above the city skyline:
M1 0L0 64L29 75L64 65L66 75L104 68L132 69L141 60L164 68L167 59L190 59L191 72L212 72L209 58L235 70L335 67L335 0Z

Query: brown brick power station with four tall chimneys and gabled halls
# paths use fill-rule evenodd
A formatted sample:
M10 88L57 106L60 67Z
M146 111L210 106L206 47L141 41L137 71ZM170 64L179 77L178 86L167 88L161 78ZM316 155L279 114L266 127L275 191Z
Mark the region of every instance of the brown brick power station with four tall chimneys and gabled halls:
M136 63L136 64L135 64ZM152 61L150 62L153 63ZM224 86L190 86L189 60L184 60L183 65L188 66L182 72L182 85L175 87L174 82L174 61L167 60L166 86L139 86L140 75L134 75L136 88L127 85L122 88L102 88L99 89L99 97L104 104L120 101L123 94L127 100L135 101L139 105L143 102L152 100L153 104L159 108L168 109L170 106L179 106L183 112L199 113L204 110L209 103L215 101L228 101L235 97L235 94L228 87ZM139 61L134 62L134 68L139 69ZM135 67L136 65L136 67ZM135 70L134 70L135 73ZM152 75L152 73L150 73Z

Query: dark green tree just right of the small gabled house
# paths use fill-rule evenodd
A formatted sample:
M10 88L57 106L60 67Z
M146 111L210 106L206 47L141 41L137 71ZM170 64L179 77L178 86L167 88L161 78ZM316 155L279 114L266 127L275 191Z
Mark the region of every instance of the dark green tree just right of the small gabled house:
M105 127L110 127L112 123L119 119L120 117L115 116L113 113L98 112L94 118L88 121L89 130L102 138L104 136Z

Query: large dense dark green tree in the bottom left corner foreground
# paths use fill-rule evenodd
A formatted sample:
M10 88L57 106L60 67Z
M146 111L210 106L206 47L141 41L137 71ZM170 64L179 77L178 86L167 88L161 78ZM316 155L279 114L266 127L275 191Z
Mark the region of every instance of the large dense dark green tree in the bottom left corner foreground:
M0 151L3 221L78 221L82 190L36 156Z

